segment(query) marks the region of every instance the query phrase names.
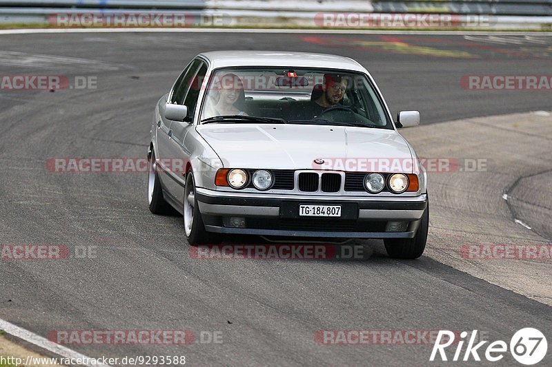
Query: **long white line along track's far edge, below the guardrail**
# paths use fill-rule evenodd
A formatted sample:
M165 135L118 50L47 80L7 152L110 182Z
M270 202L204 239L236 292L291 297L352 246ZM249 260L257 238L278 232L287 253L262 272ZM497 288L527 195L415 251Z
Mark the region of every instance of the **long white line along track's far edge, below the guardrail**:
M242 28L46 28L0 30L1 34L43 34L43 33L132 33L132 32L165 32L165 33L295 33L295 34L434 34L459 35L501 35L501 36L552 36L552 32L515 32L515 31L420 31L420 30L313 30L313 29L242 29Z

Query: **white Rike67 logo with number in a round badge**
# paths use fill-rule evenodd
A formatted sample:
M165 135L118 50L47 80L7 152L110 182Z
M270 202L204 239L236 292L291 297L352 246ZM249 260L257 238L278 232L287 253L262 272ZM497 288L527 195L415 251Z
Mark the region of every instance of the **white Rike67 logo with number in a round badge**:
M510 353L516 361L520 362L520 364L530 366L542 361L546 355L546 350L548 350L546 337L535 328L522 328L517 331L512 339L510 339L509 348L508 344L502 340L497 340L486 346L486 348L482 348L482 346L489 341L484 340L475 344L477 330L472 331L469 341L466 338L468 337L468 332L466 331L460 333L460 340L455 340L456 336L457 333L453 333L453 331L440 330L439 334L437 334L437 340L435 341L433 350L431 350L429 360L435 361L438 352L442 361L448 361L449 359L447 359L445 349L456 344L453 361L469 361L471 358L473 358L474 361L481 361L479 353L482 353L487 361L500 361L500 359L504 357L504 353L510 349ZM445 340L445 342L442 342L442 340ZM468 341L468 344L463 357L461 357L462 348L466 341ZM480 348L481 350L479 350Z

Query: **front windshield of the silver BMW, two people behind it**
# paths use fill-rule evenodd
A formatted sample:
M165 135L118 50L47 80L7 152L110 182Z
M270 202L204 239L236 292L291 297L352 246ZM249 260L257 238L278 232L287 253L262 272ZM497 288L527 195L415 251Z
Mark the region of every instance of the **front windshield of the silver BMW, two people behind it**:
M202 123L279 122L393 129L364 74L283 67L225 68L213 72L207 88Z

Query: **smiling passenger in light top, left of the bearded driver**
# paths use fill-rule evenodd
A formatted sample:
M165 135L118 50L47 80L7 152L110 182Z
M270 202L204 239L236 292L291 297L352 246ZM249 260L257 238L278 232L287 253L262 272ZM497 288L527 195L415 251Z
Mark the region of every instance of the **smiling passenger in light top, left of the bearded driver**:
M217 85L219 100L213 106L213 116L248 116L237 105L245 101L244 83L236 74L225 74Z

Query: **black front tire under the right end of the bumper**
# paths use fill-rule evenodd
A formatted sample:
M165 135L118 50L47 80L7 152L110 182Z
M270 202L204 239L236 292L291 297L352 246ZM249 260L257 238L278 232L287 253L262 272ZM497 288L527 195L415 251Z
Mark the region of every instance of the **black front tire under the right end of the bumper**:
M420 227L413 238L386 238L385 249L391 258L417 259L422 256L426 248L427 232L429 227L429 205L424 211Z

